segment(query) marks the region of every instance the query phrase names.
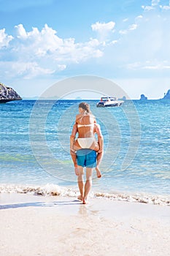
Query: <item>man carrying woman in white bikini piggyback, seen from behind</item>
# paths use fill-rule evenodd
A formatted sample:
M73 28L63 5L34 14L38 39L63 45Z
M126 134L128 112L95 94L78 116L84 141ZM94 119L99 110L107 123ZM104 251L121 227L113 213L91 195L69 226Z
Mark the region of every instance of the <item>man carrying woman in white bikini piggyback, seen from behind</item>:
M96 167L98 178L101 178L99 165L103 157L103 136L101 129L96 124L96 118L90 111L86 102L79 105L79 114L70 136L70 154L74 163L75 174L77 175L80 196L82 203L87 203L87 198L92 186L93 168ZM78 133L78 137L76 135ZM98 136L96 141L95 134ZM83 182L83 168L86 167L86 182Z

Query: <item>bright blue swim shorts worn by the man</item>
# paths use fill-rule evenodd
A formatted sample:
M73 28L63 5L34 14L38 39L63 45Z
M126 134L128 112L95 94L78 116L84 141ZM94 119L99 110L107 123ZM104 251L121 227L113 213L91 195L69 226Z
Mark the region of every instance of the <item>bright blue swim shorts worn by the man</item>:
M89 148L77 150L77 165L82 167L96 167L96 151Z

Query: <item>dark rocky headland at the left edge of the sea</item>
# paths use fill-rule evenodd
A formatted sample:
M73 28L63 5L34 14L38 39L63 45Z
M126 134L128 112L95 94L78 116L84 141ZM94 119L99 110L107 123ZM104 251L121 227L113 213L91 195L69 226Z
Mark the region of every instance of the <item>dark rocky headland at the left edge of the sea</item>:
M22 99L20 95L14 89L4 86L3 83L0 83L0 103L10 102L12 100Z

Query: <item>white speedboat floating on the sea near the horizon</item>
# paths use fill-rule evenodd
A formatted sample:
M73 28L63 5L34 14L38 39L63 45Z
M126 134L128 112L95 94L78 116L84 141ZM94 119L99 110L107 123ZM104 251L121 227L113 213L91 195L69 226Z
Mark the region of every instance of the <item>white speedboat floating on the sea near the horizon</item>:
M116 99L115 97L101 97L101 100L97 102L96 107L104 108L104 107L119 107L123 104L123 100Z

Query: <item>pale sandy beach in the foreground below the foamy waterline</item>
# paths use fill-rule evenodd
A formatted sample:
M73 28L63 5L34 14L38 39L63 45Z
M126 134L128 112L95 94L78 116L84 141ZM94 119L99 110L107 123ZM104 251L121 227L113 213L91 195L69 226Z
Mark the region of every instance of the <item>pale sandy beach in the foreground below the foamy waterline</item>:
M0 194L1 256L168 256L170 207Z

